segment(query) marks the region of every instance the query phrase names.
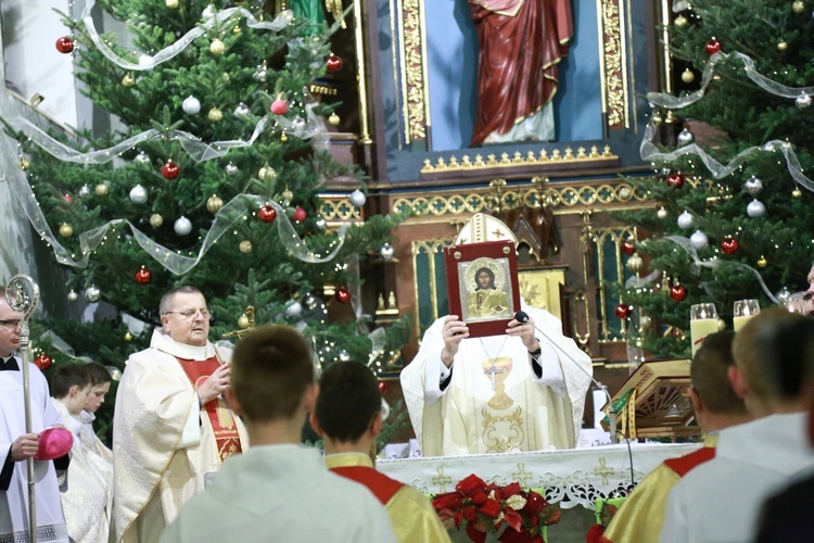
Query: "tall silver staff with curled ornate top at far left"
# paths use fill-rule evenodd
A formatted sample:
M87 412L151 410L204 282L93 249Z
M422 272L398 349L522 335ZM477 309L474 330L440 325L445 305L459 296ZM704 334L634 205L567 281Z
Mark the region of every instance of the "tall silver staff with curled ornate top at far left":
M28 361L30 358L28 320L39 304L39 287L27 275L15 275L5 288L5 301L9 307L22 313L20 320L20 353L23 358L23 404L25 409L25 432L31 433L31 390L28 377ZM34 457L25 460L28 469L28 541L37 543L37 502L35 495Z

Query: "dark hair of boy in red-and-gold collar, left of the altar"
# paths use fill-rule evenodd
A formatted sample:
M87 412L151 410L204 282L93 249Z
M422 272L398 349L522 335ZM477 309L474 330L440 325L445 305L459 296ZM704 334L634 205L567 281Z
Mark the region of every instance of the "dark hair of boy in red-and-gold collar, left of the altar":
M322 372L315 415L330 439L355 443L381 408L379 380L366 365L338 362Z

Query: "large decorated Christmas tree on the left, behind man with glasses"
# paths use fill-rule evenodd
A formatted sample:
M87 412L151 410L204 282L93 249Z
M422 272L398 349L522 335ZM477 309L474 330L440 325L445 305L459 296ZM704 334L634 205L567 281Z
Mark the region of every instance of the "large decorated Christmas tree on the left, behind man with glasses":
M392 257L398 217L363 220L363 172L328 149L325 118L339 104L308 92L341 67L330 39L344 15L325 23L259 0L98 2L127 25L125 43L97 31L94 4L64 15L56 49L75 63L82 91L115 115L114 129L68 138L3 119L31 190L20 200L65 270L68 300L118 312L85 331L46 326L68 354L123 368L158 325L161 295L191 285L213 311L212 339L285 323L313 340L322 365L384 369L409 323L370 331L359 269L370 256ZM344 197L327 203L320 194L336 187ZM131 333L122 315L143 331ZM67 352L40 348L56 363L48 350Z

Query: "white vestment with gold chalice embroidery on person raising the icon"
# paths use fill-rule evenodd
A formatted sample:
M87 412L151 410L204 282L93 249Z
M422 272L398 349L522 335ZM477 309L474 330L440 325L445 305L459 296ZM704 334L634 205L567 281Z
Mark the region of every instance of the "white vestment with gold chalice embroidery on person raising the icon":
M441 390L444 319L427 330L418 355L400 377L424 456L575 446L593 375L590 357L562 334L557 317L527 306L523 311L570 356L535 332L543 351L539 378L520 338L468 338L455 355L448 386Z

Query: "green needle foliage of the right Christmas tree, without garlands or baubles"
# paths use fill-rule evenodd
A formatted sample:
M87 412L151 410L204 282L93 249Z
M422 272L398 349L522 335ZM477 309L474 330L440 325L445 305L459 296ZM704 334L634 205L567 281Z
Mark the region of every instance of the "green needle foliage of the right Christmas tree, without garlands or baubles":
M689 24L669 27L671 50L676 59L689 62L696 73L703 72L710 62L705 46L715 38L723 52L748 55L760 74L779 85L814 85L814 21L810 10L798 13L788 0L699 0L681 15ZM780 42L785 47L778 47ZM814 111L797 108L794 98L759 87L747 76L742 62L732 58L718 62L701 100L675 113L699 123L689 125L694 129L708 126L716 130L703 146L724 165L743 150L771 140L791 144L804 175L814 164ZM673 149L664 148L664 152ZM784 288L805 290L814 257L814 198L794 181L781 152L753 153L735 173L720 179L697 155L658 162L653 169L654 176L632 181L637 191L664 207L666 218L659 218L653 209L620 213L619 217L649 232L648 239L637 243L638 252L650 269L663 270L673 283L679 281L687 289L687 298L681 302L670 298L667 289L661 288L662 277L648 286L623 289L624 303L633 304L654 323L643 338L646 349L658 356L688 355L691 304L713 302L727 326L736 300L753 298L764 307L772 304L752 270L760 274L773 294ZM684 186L669 187L665 179L670 173L682 173ZM763 187L754 194L745 190L752 176ZM765 214L750 217L747 206L755 199L764 204ZM688 230L676 224L685 211L694 216ZM697 230L709 238L709 244L698 250L699 262L666 239L687 238ZM739 244L733 254L722 250L721 243L727 238Z

